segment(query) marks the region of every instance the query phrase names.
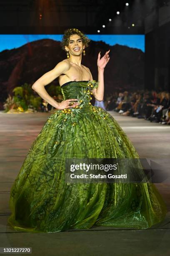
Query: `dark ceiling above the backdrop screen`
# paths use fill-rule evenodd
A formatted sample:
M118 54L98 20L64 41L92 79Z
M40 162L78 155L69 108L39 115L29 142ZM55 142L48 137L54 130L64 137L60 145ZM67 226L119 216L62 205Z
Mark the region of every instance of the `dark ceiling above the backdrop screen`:
M125 6L127 2L129 6ZM0 33L60 34L74 27L89 34L97 30L102 34L144 33L145 17L168 3L168 0L1 0Z

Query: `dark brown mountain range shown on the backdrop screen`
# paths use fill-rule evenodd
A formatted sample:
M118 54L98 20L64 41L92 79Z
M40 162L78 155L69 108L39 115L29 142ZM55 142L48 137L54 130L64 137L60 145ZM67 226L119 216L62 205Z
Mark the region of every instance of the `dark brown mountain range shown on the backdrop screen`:
M110 49L110 61L104 71L105 93L139 90L144 87L144 56L140 49L103 41L90 41L82 55L82 64L88 67L94 80L98 80L97 56ZM41 39L19 48L0 52L0 109L8 94L24 83L30 86L43 74L53 69L58 62L67 59L60 41ZM59 85L58 79L51 84Z

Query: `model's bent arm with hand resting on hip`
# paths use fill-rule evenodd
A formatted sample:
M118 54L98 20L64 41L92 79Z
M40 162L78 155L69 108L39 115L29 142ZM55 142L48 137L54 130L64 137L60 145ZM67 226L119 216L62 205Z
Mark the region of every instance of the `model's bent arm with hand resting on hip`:
M45 86L47 84L50 84L50 82L59 77L60 74L64 74L69 68L70 66L67 62L61 61L55 66L54 69L42 75L42 77L40 77L34 84L32 84L32 89L35 90L35 92L37 92L37 94L40 95L40 97L42 97L43 100L48 102L54 108L73 108L80 104L75 102L72 106L69 106L71 100L77 99L63 100L62 102L58 103L45 90Z

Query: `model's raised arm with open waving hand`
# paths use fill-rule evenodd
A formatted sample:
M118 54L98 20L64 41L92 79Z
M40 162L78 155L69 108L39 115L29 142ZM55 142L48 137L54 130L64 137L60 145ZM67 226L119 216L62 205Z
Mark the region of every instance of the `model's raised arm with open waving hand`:
M99 85L97 88L92 90L92 93L93 93L95 99L98 101L102 101L103 97L104 97L104 69L105 69L107 62L110 59L110 57L108 55L109 51L106 51L105 55L101 59L100 59L100 53L98 54L97 67L98 67ZM90 69L89 69L89 72L90 72ZM90 72L90 74L91 74L91 72ZM93 80L92 74L91 74L90 80Z

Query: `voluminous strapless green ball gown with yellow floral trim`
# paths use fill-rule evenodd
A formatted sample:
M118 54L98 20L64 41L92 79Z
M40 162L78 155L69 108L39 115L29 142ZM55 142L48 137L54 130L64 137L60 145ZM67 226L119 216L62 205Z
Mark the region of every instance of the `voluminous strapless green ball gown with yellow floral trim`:
M66 158L139 157L112 115L90 104L98 83L62 87L64 100L78 99L81 105L52 113L32 143L10 192L8 223L15 230L146 229L165 218L167 207L152 183L65 182Z

